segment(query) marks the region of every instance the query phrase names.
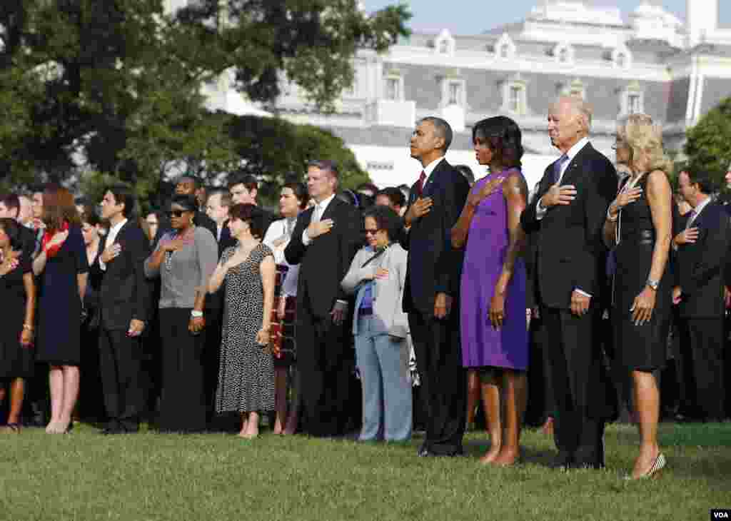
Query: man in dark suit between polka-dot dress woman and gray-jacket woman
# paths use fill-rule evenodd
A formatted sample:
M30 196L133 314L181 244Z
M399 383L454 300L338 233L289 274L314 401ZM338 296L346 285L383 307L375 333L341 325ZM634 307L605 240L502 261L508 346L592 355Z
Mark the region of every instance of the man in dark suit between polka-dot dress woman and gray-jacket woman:
M307 188L316 204L300 213L284 250L300 265L297 289L297 364L300 425L311 436L344 434L348 411L348 297L340 286L360 245L360 213L337 199L333 161L312 161Z

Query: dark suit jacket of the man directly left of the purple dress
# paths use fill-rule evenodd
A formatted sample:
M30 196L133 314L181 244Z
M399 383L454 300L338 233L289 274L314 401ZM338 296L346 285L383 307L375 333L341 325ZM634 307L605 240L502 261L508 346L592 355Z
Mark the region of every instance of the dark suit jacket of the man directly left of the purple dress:
M469 194L469 183L447 159L431 172L423 197L433 205L425 216L412 223L405 247L409 251L404 287L404 311L433 314L437 293L446 293L458 304L464 251L452 248L452 227ZM416 183L409 207L417 199ZM408 208L407 210L408 211Z

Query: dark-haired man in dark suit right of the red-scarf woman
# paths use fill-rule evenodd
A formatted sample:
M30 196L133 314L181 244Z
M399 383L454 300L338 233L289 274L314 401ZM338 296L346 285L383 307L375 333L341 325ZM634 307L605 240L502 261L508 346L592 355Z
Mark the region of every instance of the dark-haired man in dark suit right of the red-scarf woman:
M99 257L104 272L99 289L99 370L109 418L105 434L137 432L144 403L140 335L151 305L151 284L143 269L149 241L135 221L128 221L134 210L132 191L124 186L107 189L102 218L110 229Z

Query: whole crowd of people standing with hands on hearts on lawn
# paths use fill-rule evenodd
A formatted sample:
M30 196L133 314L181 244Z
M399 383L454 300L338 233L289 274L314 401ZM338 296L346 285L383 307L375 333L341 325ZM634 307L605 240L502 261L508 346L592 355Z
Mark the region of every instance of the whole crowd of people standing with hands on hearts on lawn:
M477 182L428 117L410 189L340 191L337 164L311 161L278 216L240 174L183 175L146 215L125 186L99 202L56 184L4 194L3 431L80 417L107 435L143 420L197 433L233 415L255 438L263 414L282 435L418 428L418 455L439 457L462 454L482 403L481 463L518 463L529 423L553 433L558 468L602 468L605 424L625 418L629 477L656 474L662 417L727 417L729 212L703 172L673 193L648 115L618 123L615 161L590 130L588 104L553 104L561 157L530 193L520 128L496 116L472 129Z

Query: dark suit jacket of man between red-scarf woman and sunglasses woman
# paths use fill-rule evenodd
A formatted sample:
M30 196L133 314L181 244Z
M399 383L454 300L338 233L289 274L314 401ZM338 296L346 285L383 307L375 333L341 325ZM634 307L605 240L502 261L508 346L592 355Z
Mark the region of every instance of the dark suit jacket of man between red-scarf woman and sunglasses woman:
M151 313L152 284L145 278L143 267L150 242L137 224L128 221L115 243L121 246L121 252L107 264L102 276L99 313L105 329L126 330L132 319L147 322Z

